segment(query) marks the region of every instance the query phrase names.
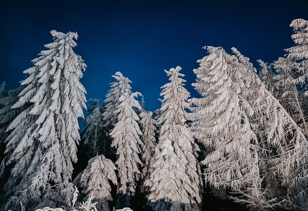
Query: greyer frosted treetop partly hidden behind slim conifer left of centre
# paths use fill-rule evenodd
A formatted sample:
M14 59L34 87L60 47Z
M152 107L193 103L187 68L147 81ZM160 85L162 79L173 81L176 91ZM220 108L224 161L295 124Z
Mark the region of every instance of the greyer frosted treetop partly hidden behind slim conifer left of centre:
M105 111L103 112L103 119L106 121L105 126L112 127L117 122L117 107L120 105L119 98L124 92L132 94L132 87L129 85L132 83L127 77L124 77L121 72L116 72L114 76L115 82L110 83L111 89L106 95Z

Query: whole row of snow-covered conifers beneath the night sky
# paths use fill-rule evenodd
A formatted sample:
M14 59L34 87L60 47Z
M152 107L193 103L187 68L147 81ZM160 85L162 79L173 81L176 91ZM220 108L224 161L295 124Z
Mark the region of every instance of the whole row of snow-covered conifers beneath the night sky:
M290 26L295 45L259 71L236 48L205 46L199 97L181 67L164 70L154 113L121 72L86 106L78 35L52 30L20 87L0 86L0 209L109 211L139 197L145 210L196 211L206 184L250 210L307 210L308 21Z

